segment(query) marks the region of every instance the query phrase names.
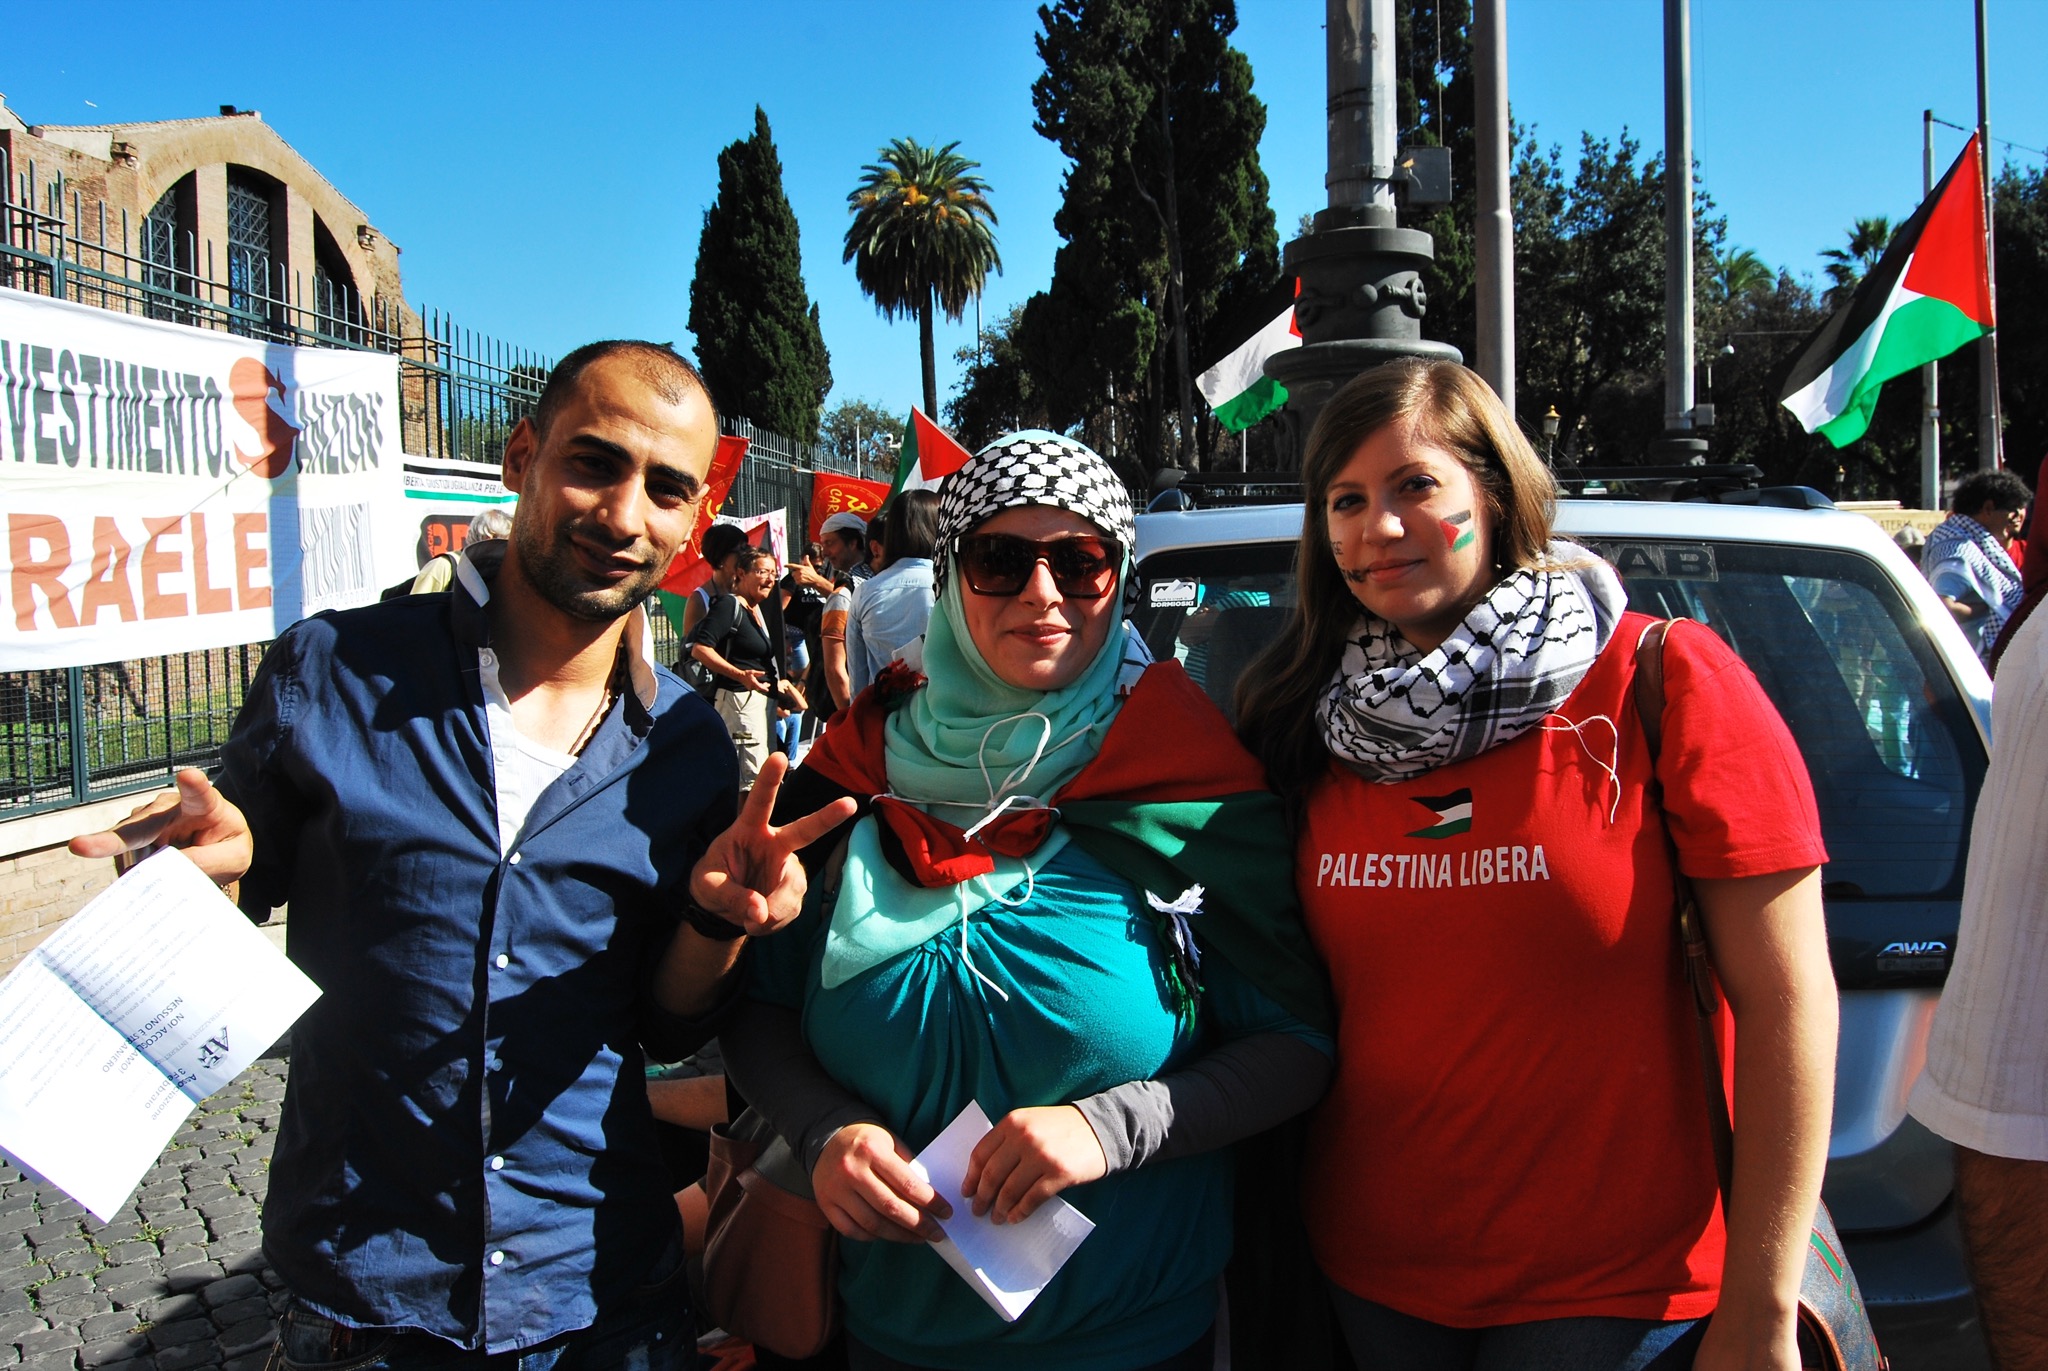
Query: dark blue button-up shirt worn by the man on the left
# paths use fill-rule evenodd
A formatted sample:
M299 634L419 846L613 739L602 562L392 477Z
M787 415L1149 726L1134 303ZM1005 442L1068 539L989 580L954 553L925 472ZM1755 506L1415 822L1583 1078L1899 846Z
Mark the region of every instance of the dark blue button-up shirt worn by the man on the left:
M651 973L737 766L717 713L637 660L502 855L487 594L465 566L449 594L293 625L219 783L256 840L242 904L291 904L324 992L291 1035L264 1252L344 1324L504 1353L592 1324L676 1236L641 1045L674 1060L713 1027L662 1014Z

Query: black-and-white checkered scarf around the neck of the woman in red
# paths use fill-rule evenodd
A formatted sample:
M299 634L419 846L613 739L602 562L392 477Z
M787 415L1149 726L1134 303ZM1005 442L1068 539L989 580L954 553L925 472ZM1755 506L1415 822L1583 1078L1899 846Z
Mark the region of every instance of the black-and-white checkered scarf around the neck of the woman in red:
M1606 562L1550 543L1546 568L1501 580L1436 652L1360 615L1317 705L1323 742L1368 781L1419 777L1546 719L1614 637L1628 596Z

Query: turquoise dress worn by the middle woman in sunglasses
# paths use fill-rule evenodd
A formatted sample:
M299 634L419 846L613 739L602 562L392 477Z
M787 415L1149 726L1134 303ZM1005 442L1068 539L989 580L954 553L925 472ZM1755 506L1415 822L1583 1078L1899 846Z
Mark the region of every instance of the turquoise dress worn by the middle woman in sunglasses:
M1155 914L1079 844L1038 871L1024 904L991 904L969 920L973 967L952 924L825 990L827 918L829 910L809 910L788 932L758 941L752 994L799 1008L817 1060L911 1152L969 1100L989 1119L1067 1105L1255 1033L1290 1033L1333 1051L1217 953L1202 959L1206 994L1190 1027L1174 1012ZM842 1240L848 1330L897 1361L961 1371L1122 1371L1200 1338L1231 1254L1229 1150L1104 1176L1063 1199L1096 1232L1018 1322L1006 1324L928 1246Z

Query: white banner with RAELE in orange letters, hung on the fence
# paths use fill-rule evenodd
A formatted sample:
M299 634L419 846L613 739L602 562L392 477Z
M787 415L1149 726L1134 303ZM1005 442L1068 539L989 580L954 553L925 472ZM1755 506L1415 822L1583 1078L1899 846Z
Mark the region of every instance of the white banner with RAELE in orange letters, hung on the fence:
M414 566L397 359L0 289L0 668L276 637Z

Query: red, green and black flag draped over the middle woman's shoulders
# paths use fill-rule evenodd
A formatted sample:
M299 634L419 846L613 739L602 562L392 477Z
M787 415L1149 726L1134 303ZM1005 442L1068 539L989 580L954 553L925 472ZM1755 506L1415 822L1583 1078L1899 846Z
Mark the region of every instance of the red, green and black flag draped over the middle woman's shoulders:
M883 725L922 684L922 676L885 672L842 709L782 783L774 822L786 824L842 795L858 799L862 816L877 809L874 797L889 789ZM1202 746L1190 748L1190 738ZM1202 885L1202 912L1190 920L1196 941L1221 951L1303 1023L1333 1031L1329 982L1294 900L1294 840L1280 797L1180 662L1145 670L1096 760L1051 803L1081 850L1141 891L1174 898ZM973 863L975 840L963 840L942 820L891 801L879 807L879 818L883 855L907 881L958 879ZM1034 846L1047 828L1024 842ZM807 848L805 867L815 871L838 842L836 832Z

